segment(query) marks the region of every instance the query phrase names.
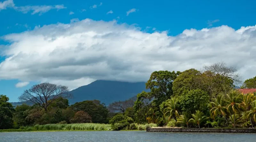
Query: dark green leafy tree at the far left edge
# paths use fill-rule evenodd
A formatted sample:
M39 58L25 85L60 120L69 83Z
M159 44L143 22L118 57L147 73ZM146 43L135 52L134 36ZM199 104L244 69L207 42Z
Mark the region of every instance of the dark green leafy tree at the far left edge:
M14 108L6 95L0 95L0 129L12 128Z

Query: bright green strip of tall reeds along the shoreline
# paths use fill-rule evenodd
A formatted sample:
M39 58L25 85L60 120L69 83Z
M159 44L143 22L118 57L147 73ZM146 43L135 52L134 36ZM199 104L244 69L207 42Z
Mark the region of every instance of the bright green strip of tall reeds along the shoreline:
M156 124L138 124L137 130L146 130L147 125L156 127ZM4 129L0 132L24 131L111 131L110 124L79 123L79 124L45 124L23 127L22 129Z

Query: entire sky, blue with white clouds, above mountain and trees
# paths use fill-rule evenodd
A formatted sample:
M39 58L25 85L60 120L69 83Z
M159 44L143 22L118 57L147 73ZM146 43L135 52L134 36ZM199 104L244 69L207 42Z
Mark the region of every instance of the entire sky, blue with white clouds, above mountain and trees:
M256 75L256 1L0 0L0 94L225 62Z

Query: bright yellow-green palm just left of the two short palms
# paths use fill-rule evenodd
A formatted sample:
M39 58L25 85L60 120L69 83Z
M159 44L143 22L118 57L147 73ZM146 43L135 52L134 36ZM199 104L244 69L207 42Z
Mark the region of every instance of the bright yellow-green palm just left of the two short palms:
M171 99L169 99L164 106L166 107L164 108L164 117L166 116L168 117L168 122L171 120L173 116L176 116L176 117L179 116L175 97L172 97Z

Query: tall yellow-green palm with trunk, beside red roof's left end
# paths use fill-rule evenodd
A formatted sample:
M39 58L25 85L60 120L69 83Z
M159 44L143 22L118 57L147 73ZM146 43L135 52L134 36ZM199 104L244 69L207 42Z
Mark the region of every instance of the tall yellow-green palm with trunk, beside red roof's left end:
M228 105L225 107L227 108L228 112L230 114L233 113L232 117L232 121L234 122L234 128L236 128L236 113L238 113L240 111L240 109L243 108L243 106L240 104L242 102L241 99L241 93L236 91L236 90L232 90L227 94L227 100L226 102L228 103Z

